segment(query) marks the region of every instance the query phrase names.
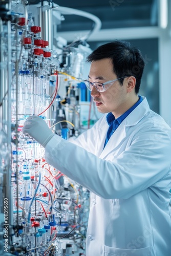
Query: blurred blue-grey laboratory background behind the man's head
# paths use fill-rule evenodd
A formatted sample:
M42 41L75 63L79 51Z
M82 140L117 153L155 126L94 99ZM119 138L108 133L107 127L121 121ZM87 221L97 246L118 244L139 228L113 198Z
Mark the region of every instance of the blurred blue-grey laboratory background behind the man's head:
M127 40L141 50L145 70L140 94L147 97L152 110L170 123L170 1L88 0L56 3L91 13L100 19L100 30L87 39L92 50L114 39ZM54 37L58 35L72 42L88 34L93 26L90 18L67 12Z

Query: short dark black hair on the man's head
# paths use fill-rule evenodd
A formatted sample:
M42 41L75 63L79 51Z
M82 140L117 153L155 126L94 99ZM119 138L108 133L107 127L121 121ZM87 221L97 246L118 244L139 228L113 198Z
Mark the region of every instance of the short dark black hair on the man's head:
M87 61L110 58L113 63L113 71L117 78L122 76L134 76L136 78L135 93L138 94L141 77L144 70L144 60L140 50L132 46L129 42L114 40L95 49L88 57ZM119 80L123 84L123 79Z

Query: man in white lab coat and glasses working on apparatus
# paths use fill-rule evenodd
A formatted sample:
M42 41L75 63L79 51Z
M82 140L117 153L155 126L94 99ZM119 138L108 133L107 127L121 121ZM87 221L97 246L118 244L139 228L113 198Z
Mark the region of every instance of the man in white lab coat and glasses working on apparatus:
M23 132L46 160L91 191L87 256L170 256L171 129L139 96L140 51L115 40L98 47L86 86L104 115L74 143L29 117Z

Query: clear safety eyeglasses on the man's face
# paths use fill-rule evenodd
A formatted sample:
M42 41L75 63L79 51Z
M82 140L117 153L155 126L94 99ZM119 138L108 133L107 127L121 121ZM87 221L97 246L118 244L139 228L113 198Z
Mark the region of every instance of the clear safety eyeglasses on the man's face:
M117 80L119 80L121 78L125 78L125 77L129 77L129 76L123 76L123 77L117 78L115 80L110 80L110 81L107 81L104 83L90 82L89 80L83 80L83 81L86 84L86 87L87 87L87 89L89 89L89 91L92 91L93 86L94 86L98 92L104 92L104 91L108 90L112 86L112 84L114 84L114 82L116 82Z

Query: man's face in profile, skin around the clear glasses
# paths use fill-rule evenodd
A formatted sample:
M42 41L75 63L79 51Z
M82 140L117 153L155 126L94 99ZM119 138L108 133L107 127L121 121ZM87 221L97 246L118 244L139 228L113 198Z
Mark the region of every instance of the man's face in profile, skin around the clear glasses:
M104 83L119 77L113 71L112 60L109 58L92 61L89 73L90 82ZM127 77L123 81L123 85L119 81L115 81L113 85L104 92L98 92L95 87L91 92L93 101L100 113L112 112L117 118L125 111L127 100Z

